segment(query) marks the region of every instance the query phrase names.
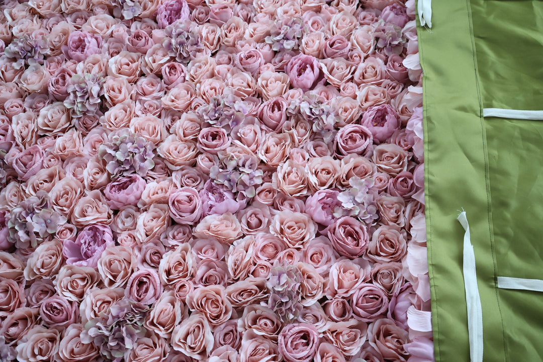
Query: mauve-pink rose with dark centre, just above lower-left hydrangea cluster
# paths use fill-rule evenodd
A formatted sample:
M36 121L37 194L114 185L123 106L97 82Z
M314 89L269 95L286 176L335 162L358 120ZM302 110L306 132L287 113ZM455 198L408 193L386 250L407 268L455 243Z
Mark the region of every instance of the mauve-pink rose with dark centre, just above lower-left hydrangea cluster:
M159 299L162 290L157 272L153 269L142 268L130 276L124 295L135 302L153 304Z

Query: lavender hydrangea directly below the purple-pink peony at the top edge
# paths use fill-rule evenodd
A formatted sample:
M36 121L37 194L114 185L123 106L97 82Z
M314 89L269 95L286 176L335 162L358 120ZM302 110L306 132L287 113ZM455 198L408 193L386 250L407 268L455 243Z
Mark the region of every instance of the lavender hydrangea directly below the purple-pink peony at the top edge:
M169 56L173 56L180 63L187 65L191 56L194 58L202 47L191 21L176 21L164 31L166 37L162 41L162 46L168 50Z

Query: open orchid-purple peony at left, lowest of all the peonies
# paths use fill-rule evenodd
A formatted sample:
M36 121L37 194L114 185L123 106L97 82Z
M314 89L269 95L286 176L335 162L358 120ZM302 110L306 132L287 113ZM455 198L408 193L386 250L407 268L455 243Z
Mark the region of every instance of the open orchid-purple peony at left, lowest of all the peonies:
M77 238L64 241L62 254L67 264L98 266L98 259L108 245L113 245L113 233L108 225L91 224L77 234Z

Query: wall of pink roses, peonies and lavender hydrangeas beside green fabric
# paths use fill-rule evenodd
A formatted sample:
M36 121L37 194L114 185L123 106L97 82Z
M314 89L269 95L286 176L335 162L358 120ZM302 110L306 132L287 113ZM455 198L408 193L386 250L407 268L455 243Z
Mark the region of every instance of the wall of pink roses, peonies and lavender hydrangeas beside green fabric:
M433 360L414 0L0 10L2 361Z

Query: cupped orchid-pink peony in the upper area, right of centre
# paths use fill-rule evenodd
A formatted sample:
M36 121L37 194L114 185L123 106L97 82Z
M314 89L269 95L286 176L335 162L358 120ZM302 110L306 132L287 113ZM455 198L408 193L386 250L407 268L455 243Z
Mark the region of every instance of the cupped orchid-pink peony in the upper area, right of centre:
M324 84L317 58L311 55L298 54L289 60L287 74L291 85L303 91L313 89L317 84Z

